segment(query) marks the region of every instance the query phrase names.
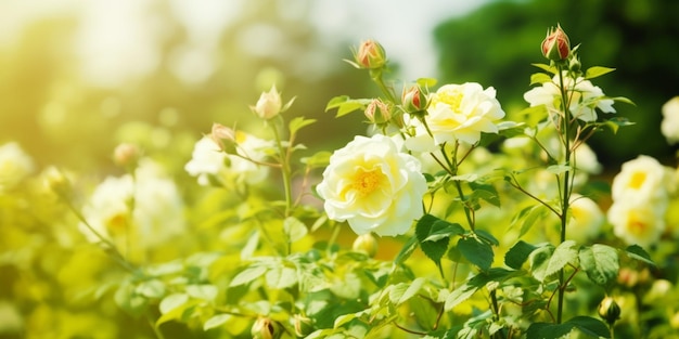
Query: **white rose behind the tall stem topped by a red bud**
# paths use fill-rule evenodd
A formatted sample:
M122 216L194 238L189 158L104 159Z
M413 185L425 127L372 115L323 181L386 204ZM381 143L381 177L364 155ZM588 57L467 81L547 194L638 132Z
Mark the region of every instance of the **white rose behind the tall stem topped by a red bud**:
M605 95L601 88L593 86L591 81L585 80L582 77L578 77L575 80L574 86L573 78L567 77L565 73L563 80L568 92L573 92L568 109L575 118L586 122L595 121L597 108L604 113L615 113L615 108L613 108L613 100L597 100L599 97L604 97ZM527 91L524 94L524 100L530 104L530 107L546 105L550 112L556 110L554 103L561 103L559 76L554 76L551 82L545 82L542 86Z

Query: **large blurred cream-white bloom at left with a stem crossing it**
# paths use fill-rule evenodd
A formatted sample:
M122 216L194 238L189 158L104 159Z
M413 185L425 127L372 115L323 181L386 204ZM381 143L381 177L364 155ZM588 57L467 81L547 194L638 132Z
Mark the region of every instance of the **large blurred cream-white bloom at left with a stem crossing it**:
M184 230L183 201L177 185L148 159L140 162L134 179L125 174L101 182L82 208L82 216L97 233L123 246L151 248ZM85 224L79 227L88 240L101 240Z

